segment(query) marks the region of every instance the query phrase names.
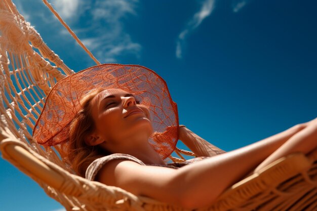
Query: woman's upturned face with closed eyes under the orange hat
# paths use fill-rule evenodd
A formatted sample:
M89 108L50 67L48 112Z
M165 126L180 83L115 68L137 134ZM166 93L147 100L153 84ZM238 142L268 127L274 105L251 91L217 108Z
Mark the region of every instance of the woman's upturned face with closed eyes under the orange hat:
M95 134L106 142L124 144L123 140L137 133L148 137L153 133L148 109L131 93L104 90L93 98L91 108Z

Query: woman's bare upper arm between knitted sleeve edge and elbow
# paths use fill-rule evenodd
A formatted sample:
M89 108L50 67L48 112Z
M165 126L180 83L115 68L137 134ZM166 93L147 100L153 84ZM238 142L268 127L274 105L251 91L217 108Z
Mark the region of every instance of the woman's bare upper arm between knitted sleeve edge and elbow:
M163 166L141 165L127 159L116 159L103 165L95 181L122 188L135 195L153 197L157 190L171 191L178 170ZM155 193L156 191L156 193Z

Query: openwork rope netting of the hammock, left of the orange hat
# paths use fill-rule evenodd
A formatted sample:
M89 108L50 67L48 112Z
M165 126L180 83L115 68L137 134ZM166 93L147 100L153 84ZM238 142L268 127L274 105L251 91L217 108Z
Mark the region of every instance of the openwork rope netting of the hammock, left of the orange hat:
M73 71L48 48L11 1L1 1L0 9L2 119L17 138L46 155L33 141L32 129L51 87Z

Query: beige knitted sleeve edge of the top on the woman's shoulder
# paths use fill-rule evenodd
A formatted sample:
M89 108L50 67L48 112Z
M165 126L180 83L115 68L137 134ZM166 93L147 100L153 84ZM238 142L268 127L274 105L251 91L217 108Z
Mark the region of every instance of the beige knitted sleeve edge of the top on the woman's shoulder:
M134 162L135 164L139 165L145 165L141 160L132 155L115 153L94 160L88 166L85 177L88 180L96 180L97 175L100 174L101 170L104 170L105 166L109 166L110 164L113 166L115 163L117 164L124 160L130 161L131 163Z

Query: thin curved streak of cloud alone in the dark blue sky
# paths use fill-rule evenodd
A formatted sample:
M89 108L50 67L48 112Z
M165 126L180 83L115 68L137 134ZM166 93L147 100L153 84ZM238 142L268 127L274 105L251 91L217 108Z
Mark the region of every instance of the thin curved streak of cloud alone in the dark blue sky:
M200 11L196 12L193 17L186 24L185 29L179 33L176 41L176 57L181 59L183 57L183 50L186 45L187 36L197 28L205 18L210 16L215 7L215 0L206 0L203 2Z

